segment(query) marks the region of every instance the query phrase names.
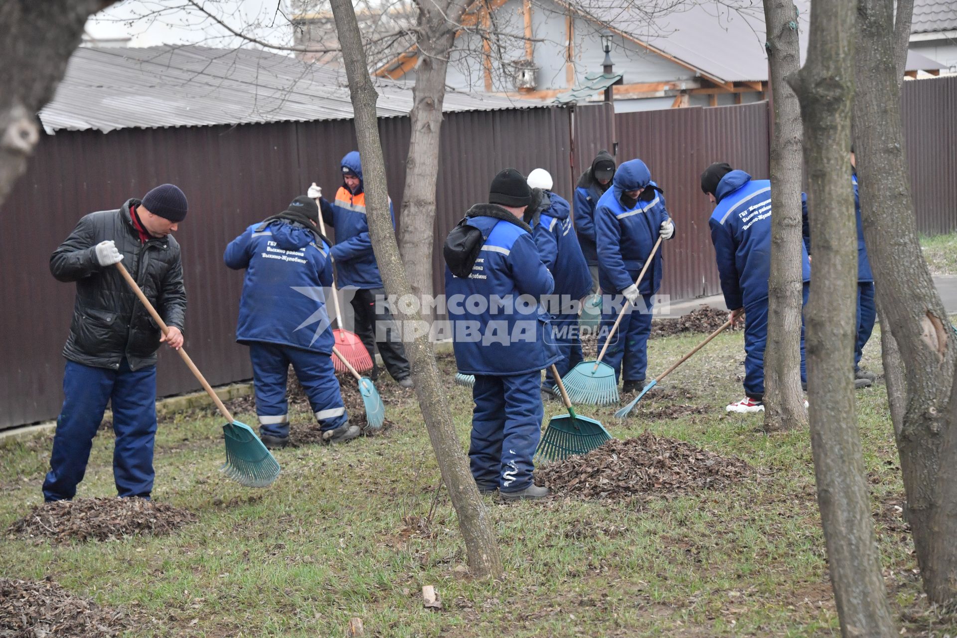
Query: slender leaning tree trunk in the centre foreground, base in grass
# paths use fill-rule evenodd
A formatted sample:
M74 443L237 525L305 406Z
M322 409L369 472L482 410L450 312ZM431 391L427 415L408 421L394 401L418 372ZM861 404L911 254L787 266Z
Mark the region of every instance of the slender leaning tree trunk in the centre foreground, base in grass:
M411 295L409 280L406 277L399 247L395 242L392 223L389 218L389 195L386 189L386 164L379 140L378 117L375 102L378 94L368 77L366 54L362 49L362 37L352 3L349 0L331 0L336 27L343 43L345 72L349 80L349 93L352 96L352 108L355 111L356 136L359 140L359 152L362 154L366 176L366 198L368 202L368 227L376 260L382 272L389 295L399 298ZM397 304L400 311L407 304ZM419 314L400 316L401 323L408 328L410 324L422 324ZM415 381L415 393L418 397L422 416L425 419L429 439L435 451L442 480L449 490L452 504L456 508L458 527L465 539L465 550L469 567L478 576L500 576L502 572L499 545L492 528L488 510L479 496L479 489L462 446L456 437L452 423L452 412L440 381L438 366L428 332L409 339L404 329L406 354L412 364L412 379Z

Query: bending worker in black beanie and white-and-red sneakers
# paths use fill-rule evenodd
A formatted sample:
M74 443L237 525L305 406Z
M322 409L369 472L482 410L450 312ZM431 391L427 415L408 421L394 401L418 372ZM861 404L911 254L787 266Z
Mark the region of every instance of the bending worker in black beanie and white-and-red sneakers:
M745 399L728 412L763 412L765 345L768 342L768 276L771 269L771 184L754 180L726 163L708 166L701 190L717 204L708 220L715 247L724 303L734 317L745 313ZM802 195L802 203L805 201ZM811 262L801 246L804 303L808 301ZM801 381L806 383L804 326L801 326Z

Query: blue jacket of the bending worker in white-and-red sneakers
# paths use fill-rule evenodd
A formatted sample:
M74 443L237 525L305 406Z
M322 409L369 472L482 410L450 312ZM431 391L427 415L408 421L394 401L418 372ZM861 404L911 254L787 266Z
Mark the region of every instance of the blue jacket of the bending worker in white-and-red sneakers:
M752 180L743 170L724 175L715 192L711 241L728 309L768 302L771 272L771 183ZM802 205L806 198L802 194ZM801 246L801 276L811 279L808 251Z

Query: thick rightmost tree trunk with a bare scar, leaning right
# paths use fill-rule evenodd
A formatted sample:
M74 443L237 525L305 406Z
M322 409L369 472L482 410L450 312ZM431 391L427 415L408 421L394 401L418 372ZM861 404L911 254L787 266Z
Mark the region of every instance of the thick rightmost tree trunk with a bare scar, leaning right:
M942 455L945 434L955 427L950 393L957 344L918 241L903 155L901 86L896 75L901 51L893 2L858 0L857 15L859 89L854 118L864 239L880 299L880 331L889 331L897 342L903 364L906 389L888 385L888 398L892 415L903 412L896 429L907 520L924 589L931 600L943 602L952 595L946 594L946 582L957 574L957 548L953 547L957 513L952 509L937 512L942 503L937 494L941 471L957 465L957 447L949 446L947 455ZM895 405L901 400L906 401L902 410ZM934 528L943 531L934 532ZM951 547L935 550L935 543ZM940 562L945 559L946 563Z

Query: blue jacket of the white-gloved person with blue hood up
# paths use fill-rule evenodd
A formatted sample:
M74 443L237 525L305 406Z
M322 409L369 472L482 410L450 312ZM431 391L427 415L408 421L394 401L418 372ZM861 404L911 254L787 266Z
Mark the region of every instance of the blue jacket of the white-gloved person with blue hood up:
M629 190L645 188L632 206L622 202ZM652 182L648 166L641 160L630 160L618 166L612 187L595 207L595 229L598 237L598 282L608 294L620 293L634 284L655 247L661 223L668 219L664 195ZM661 285L661 250L641 280L638 292L657 293Z

